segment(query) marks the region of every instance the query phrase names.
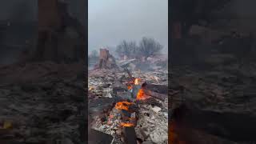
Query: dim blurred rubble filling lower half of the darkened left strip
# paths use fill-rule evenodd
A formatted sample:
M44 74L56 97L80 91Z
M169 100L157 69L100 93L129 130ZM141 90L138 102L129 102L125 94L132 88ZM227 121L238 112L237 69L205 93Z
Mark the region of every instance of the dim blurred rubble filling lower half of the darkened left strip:
M2 66L1 142L79 143L85 109L81 67L53 62Z

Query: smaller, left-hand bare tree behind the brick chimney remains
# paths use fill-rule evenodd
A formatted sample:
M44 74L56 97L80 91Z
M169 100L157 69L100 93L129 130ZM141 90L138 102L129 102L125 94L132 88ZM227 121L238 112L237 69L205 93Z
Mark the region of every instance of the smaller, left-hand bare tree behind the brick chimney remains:
M128 57L134 57L136 54L138 46L136 45L136 42L126 42L126 40L123 40L116 49L116 52L118 54L126 54Z

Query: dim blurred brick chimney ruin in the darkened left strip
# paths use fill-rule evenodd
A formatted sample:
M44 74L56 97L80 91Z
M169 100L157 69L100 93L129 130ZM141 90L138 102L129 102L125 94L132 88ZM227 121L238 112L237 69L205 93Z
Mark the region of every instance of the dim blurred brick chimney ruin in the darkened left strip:
M38 1L38 46L34 58L76 62L85 58L85 26L58 0Z

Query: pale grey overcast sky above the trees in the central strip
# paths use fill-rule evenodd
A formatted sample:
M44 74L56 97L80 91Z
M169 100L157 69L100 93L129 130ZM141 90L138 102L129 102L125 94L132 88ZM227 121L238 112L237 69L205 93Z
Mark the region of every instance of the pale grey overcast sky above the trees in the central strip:
M89 51L123 39L155 38L168 47L168 0L89 0Z

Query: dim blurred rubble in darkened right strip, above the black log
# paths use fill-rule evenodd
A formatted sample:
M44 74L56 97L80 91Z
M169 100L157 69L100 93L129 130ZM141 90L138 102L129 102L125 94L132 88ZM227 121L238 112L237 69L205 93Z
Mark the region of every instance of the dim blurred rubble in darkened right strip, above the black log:
M250 70L246 66L238 69L238 63L214 66L204 71L189 66L174 67L170 104L173 109L182 102L189 105L186 123L200 127L200 133L211 135L215 143L222 139L233 143L253 141L256 118L253 71L254 65L250 65ZM226 122L226 119L234 120ZM239 123L243 123L242 127Z

